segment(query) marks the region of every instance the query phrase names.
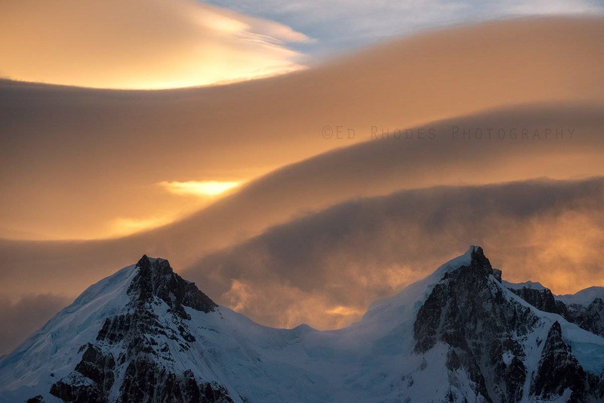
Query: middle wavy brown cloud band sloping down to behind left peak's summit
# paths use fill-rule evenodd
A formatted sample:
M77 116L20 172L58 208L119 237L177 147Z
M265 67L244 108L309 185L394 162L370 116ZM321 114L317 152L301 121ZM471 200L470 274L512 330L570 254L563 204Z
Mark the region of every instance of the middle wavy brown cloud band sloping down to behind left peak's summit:
M454 125L462 132L470 130L472 137L452 137ZM429 127L434 129L434 139L375 139L289 165L185 220L145 233L89 242L2 240L0 293L12 299L32 288L50 287L75 296L144 253L168 258L182 270L207 253L245 241L269 226L357 197L435 185L484 185L535 177L570 179L596 176L604 169L604 115L597 104L522 105L432 122ZM485 133L489 128L504 129L507 135L489 139L485 134L477 139L476 128ZM514 128L518 133L573 129L574 136L513 139L509 133ZM147 164L147 156L143 160L143 168L158 167ZM156 202L154 194L141 192L143 203Z

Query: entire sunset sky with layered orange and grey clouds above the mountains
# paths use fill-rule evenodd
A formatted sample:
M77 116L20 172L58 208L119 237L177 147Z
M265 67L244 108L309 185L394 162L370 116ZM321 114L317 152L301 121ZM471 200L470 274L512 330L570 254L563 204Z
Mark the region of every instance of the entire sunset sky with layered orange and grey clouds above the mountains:
M3 2L0 354L143 254L283 327L349 325L470 244L604 285L602 12Z

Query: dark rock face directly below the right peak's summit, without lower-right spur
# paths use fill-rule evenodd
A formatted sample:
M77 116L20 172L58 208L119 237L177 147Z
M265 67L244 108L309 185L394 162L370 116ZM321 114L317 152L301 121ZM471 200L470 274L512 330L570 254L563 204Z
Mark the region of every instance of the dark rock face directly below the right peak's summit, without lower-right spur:
M532 330L538 318L503 296L499 274L480 247L469 265L446 273L417 313L415 350L426 352L438 341L448 344L449 370L458 361L475 382L477 396L511 403L522 398L526 378L524 351L516 337ZM512 357L509 365L504 354Z

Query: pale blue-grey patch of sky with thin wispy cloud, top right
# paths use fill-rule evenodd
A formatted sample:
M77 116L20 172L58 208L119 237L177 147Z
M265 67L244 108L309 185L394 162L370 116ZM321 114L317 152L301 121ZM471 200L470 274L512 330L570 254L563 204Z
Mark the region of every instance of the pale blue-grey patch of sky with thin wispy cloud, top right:
M604 4L593 0L310 0L295 4L280 0L210 0L243 13L283 22L316 38L300 48L330 54L367 45L385 37L462 22L513 16L602 14ZM316 13L321 10L321 13Z

